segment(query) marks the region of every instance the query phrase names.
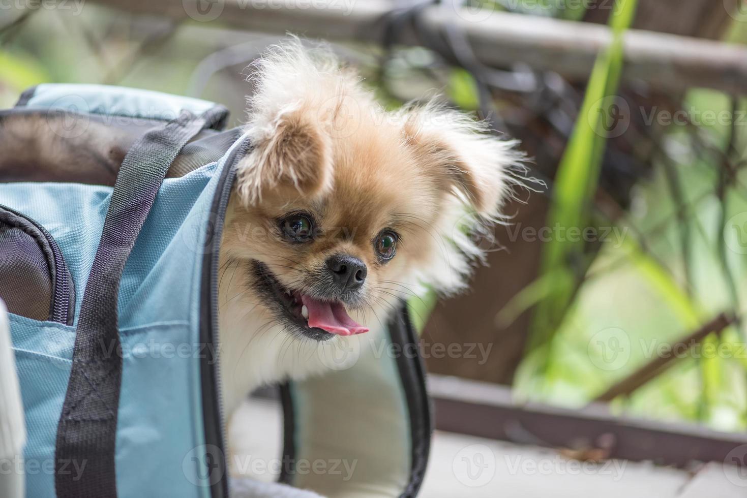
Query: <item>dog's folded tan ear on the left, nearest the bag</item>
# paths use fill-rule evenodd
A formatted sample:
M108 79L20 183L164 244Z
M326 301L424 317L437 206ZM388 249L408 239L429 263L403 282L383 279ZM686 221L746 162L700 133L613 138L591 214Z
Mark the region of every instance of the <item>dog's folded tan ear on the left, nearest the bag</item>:
M255 205L267 195L313 197L329 189L331 139L314 117L297 108L250 125L253 148L237 166L244 203Z

